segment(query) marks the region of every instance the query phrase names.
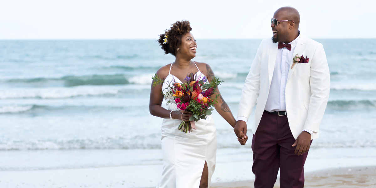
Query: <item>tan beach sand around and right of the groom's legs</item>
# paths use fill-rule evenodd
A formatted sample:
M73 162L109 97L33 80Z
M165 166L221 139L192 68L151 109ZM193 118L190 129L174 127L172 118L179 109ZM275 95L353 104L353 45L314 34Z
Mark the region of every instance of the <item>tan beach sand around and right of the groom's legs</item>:
M253 188L253 180L213 183L211 188ZM376 167L335 168L305 174L304 187L376 187ZM279 188L279 178L274 184Z

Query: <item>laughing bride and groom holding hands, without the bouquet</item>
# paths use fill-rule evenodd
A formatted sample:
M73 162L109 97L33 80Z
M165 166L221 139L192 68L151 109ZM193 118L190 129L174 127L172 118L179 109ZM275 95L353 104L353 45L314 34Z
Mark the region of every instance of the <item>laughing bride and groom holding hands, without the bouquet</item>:
M220 96L216 111L232 126L245 145L247 120L255 108L252 130L255 188L272 188L280 170L281 188L303 188L304 164L312 139L318 138L329 98L330 74L323 45L300 34L299 12L282 7L271 18L273 37L264 39L243 86L237 120ZM167 83L184 80L187 73L214 73L206 63L192 61L197 43L189 21L177 21L160 35L165 54L176 57L156 72L165 83L150 92L150 113L162 123L162 178L157 188L208 188L215 169L217 137L212 115L196 122L196 130L178 130L190 114L180 112L171 97L164 96ZM164 37L168 35L168 40ZM182 76L179 76L182 75ZM217 93L220 94L217 88ZM167 101L167 109L162 101Z

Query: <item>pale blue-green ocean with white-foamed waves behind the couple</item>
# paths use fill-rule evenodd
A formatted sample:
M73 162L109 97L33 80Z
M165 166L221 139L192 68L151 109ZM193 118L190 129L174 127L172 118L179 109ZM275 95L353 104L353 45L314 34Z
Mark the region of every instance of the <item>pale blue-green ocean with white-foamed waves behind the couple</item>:
M317 41L331 91L312 148L375 148L376 39ZM260 42L197 40L193 60L224 80L235 117ZM153 40L0 41L0 170L162 164L149 95L153 74L173 61ZM214 120L220 153L243 147L217 112Z

